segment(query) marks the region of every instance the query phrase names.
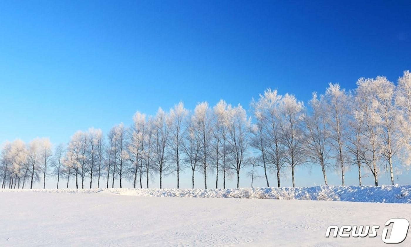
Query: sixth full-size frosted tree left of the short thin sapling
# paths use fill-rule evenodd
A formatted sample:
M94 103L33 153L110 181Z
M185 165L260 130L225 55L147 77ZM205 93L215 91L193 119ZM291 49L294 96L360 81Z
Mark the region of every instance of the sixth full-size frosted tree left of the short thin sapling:
M170 109L169 121L170 121L170 138L169 146L171 150L171 159L175 163L174 167L171 167L171 172L177 173L177 188L180 188L180 172L182 166L181 162L181 146L185 135L185 119L187 118L188 110L184 108L182 102L174 105L174 108Z

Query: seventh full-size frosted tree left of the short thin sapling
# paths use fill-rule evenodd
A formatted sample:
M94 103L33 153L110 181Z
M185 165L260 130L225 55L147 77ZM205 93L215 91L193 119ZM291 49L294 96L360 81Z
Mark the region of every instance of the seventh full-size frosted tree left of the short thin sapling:
M153 162L153 168L159 173L160 189L162 188L163 175L167 174L171 169L170 157L167 152L169 138L170 138L170 118L166 112L160 107L155 115L155 145L154 155L155 162Z

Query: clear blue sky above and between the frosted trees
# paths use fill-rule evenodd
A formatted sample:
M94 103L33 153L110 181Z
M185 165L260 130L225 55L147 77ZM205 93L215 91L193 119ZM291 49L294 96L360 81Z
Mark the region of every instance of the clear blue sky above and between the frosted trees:
M307 101L328 82L396 81L411 69L410 12L409 1L1 1L0 142L67 142L180 100L248 108L268 87ZM297 185L321 183L307 171Z

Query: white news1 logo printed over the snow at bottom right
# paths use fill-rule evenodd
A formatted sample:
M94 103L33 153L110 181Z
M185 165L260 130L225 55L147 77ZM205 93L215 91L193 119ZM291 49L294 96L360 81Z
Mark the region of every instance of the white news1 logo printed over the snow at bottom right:
M389 219L385 223L385 226L393 224L391 229L391 234L388 237L388 228L384 227L381 234L381 240L387 244L399 244L405 240L408 233L409 222L407 219ZM341 238L375 238L377 236L377 230L380 226L328 226L326 231L326 238L330 237L331 230L334 230L332 233L333 238L337 238L337 235ZM371 230L371 231L370 231Z

